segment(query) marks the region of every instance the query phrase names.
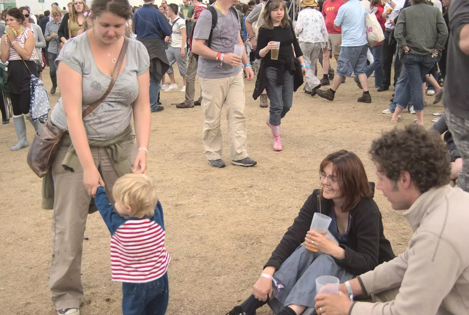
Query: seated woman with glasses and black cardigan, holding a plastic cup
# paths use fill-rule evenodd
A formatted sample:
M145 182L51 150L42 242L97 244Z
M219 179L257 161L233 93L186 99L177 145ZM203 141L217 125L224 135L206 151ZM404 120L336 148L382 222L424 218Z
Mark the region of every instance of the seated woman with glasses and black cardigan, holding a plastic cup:
M373 200L374 183L368 182L358 156L345 150L329 154L321 162L319 178L321 189L305 201L252 295L227 315L255 315L266 303L276 315L311 315L317 277L335 276L345 282L394 258ZM316 212L332 219L329 232L339 245L310 230Z

